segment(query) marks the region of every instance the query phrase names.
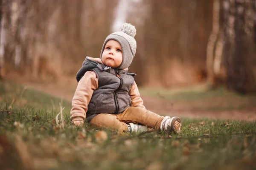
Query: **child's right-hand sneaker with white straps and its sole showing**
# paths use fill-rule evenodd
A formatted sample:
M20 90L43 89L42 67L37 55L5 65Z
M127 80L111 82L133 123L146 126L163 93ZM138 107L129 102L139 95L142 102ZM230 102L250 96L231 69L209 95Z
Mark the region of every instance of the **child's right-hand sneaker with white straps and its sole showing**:
M161 122L160 130L166 131L168 133L180 133L180 131L182 130L180 118L177 116L172 118L170 116L165 116L163 118L163 121Z

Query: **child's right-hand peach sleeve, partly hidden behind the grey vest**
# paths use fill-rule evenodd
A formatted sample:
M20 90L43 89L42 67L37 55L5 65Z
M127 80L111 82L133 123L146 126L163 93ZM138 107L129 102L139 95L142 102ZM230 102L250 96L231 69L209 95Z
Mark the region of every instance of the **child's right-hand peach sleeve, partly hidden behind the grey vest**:
M145 106L143 105L143 100L140 97L139 89L138 89L135 81L134 81L134 84L130 88L129 95L131 96L131 105L130 106L145 108Z

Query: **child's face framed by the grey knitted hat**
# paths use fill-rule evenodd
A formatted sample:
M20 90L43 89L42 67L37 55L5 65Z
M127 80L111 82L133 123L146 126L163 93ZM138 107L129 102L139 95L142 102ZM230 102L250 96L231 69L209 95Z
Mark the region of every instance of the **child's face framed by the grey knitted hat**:
M102 53L102 62L108 67L116 68L122 63L122 48L119 42L109 40Z

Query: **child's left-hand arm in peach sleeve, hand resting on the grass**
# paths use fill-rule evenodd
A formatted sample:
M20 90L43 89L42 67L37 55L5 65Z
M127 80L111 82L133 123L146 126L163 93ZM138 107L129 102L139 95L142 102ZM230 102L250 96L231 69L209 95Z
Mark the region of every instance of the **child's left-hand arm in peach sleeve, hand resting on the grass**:
M72 100L72 109L70 111L70 119L73 124L82 125L84 123L87 106L93 95L93 91L96 90L98 86L98 78L94 71L87 71L80 79Z

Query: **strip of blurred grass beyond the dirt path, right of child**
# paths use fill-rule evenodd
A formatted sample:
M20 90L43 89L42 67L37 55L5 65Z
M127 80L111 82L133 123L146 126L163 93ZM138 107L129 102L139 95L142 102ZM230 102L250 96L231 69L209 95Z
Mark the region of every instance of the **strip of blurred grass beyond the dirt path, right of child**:
M184 106L187 111L207 112L255 110L256 107L256 95L241 95L224 87L216 90L207 90L202 85L180 89L140 88L140 94L172 102L177 110Z

